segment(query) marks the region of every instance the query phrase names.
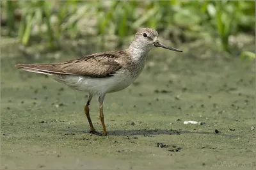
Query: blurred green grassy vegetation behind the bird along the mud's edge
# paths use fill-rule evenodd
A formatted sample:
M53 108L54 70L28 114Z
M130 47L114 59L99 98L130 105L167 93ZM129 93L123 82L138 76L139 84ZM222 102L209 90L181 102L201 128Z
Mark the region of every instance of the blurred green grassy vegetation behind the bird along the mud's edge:
M63 38L92 34L88 27L103 42L105 35L117 35L119 45L140 27L152 27L173 43L206 38L227 52L238 50L231 35L255 36L255 1L1 1L1 8L9 36L22 45L37 37L51 49Z

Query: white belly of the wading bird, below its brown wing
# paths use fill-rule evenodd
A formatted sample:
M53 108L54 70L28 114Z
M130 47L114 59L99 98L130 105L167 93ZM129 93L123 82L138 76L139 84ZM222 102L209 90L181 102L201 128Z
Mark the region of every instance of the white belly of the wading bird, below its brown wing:
M74 75L61 75L54 77L56 81L63 82L70 88L87 91L92 95L112 93L127 88L137 77L131 77L129 72L118 72L106 78L90 78Z

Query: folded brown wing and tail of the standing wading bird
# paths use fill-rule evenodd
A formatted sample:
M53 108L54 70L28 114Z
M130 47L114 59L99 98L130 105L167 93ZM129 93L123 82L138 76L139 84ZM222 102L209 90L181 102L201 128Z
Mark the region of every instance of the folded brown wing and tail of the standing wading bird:
M73 59L63 63L18 64L15 66L17 68L38 73L58 73L65 75L83 75L86 77L103 78L112 76L113 73L122 68L122 65L115 61L116 58L120 58L120 51L100 52L84 58Z

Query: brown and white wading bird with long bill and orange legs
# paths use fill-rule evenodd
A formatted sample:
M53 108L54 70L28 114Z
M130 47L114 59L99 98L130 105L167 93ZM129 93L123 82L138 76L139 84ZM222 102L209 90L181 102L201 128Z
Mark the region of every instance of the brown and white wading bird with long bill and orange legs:
M72 89L88 93L84 113L90 125L90 133L102 135L93 127L89 105L93 96L98 97L99 119L103 135L107 135L104 122L103 103L107 93L127 88L138 78L145 66L146 56L151 49L161 47L176 52L182 50L168 47L157 40L155 29L145 27L138 30L128 49L89 54L79 59L61 63L17 64L17 68L28 72L49 75Z

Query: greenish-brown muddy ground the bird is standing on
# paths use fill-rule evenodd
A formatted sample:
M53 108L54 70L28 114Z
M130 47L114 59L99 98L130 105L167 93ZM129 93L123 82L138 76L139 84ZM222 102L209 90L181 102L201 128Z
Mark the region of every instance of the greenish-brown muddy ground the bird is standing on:
M204 58L186 47L182 54L154 49L134 84L106 95L102 137L88 133L86 93L14 67L77 56L1 48L1 168L255 168L253 62L204 48ZM102 132L96 98L90 111Z

